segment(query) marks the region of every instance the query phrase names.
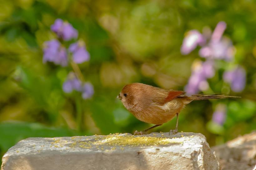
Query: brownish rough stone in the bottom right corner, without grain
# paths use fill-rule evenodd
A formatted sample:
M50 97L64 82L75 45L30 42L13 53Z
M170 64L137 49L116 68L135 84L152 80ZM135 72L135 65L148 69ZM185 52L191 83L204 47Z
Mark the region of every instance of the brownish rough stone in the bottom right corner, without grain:
M222 170L256 169L256 132L239 136L212 149L218 155Z

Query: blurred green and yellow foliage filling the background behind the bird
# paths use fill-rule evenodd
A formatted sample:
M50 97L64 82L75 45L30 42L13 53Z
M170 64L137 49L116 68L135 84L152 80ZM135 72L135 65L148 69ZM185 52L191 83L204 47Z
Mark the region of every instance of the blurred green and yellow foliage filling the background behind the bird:
M192 102L180 114L179 130L202 133L210 145L256 129L256 3L254 1L0 0L0 155L27 137L133 133L150 125L135 119L116 99L122 86L140 82L183 90L198 50L181 55L186 31L227 23L234 60L247 72L234 93L222 80L227 67L208 80L214 92L241 99ZM79 64L95 88L91 100L65 94L71 67L42 63L44 41L55 38L55 19L69 21L85 40L89 63ZM227 105L224 125L214 124L215 106ZM81 104L79 104L81 103ZM78 116L81 114L81 116ZM77 120L77 119L81 120ZM80 125L81 124L81 127ZM169 131L170 121L155 131Z

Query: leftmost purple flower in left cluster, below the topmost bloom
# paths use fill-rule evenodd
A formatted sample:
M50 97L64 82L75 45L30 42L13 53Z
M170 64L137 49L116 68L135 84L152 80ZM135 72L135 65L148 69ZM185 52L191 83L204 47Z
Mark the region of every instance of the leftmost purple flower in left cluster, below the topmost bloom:
M67 65L66 49L58 40L46 41L44 46L43 63L50 61L63 67Z

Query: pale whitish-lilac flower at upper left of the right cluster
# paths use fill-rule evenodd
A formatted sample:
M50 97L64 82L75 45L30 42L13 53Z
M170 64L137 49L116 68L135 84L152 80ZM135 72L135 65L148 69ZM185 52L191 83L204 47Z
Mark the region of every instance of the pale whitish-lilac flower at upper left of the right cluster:
M197 45L203 45L205 43L204 36L197 30L190 30L185 36L182 46L181 46L181 54L189 54L193 51Z

